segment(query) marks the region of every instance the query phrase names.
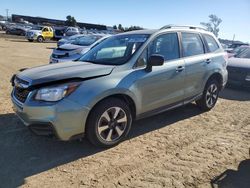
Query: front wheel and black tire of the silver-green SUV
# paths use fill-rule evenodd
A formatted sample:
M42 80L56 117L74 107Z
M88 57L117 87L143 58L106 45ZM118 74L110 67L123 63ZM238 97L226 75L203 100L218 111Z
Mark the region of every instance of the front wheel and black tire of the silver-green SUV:
M119 111L119 113L116 115L116 118L114 118L116 111ZM108 114L110 121L106 119L104 114ZM124 120L125 118L126 123L125 121L118 122L120 120ZM104 122L104 126L100 126L102 125L102 122ZM131 124L132 115L129 106L123 100L117 98L108 98L97 104L97 106L95 106L91 111L86 124L86 136L88 140L95 146L112 147L126 138L130 131ZM102 130L104 127L108 128ZM117 129L119 129L119 131L117 131ZM118 132L120 132L120 134ZM109 135L111 136L109 137ZM115 138L115 136L118 137ZM114 140L110 140L108 137L110 139L112 137Z

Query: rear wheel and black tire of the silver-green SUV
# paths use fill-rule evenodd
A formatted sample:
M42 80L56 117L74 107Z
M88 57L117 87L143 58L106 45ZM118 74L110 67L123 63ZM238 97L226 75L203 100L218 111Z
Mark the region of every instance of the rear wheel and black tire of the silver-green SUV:
M219 96L219 82L215 79L209 80L205 86L203 91L202 98L196 101L196 104L199 106L201 110L209 111L211 110Z

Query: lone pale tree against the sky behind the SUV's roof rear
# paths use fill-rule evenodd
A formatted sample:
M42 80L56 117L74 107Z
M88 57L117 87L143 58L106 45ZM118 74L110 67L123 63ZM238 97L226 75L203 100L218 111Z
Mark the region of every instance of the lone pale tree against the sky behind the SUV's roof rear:
M206 29L212 32L216 37L218 37L220 31L219 25L221 24L222 19L220 19L214 14L211 14L208 17L209 17L209 22L201 22L200 24L206 27Z

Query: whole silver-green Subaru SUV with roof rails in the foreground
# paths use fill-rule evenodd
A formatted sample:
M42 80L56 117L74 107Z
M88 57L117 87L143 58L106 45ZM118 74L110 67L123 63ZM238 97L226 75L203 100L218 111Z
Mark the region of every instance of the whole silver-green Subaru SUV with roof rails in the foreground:
M112 36L79 61L31 68L13 79L20 119L39 135L122 141L133 120L195 101L208 111L227 82L218 40L197 27L165 26Z

